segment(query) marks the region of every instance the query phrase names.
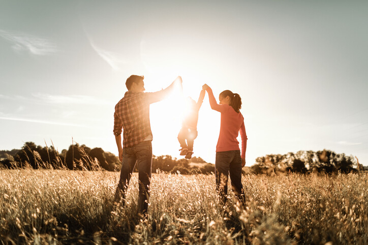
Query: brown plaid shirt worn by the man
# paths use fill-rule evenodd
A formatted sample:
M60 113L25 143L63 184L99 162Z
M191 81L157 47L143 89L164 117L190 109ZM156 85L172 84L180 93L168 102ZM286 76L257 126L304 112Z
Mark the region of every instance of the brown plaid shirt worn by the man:
M154 93L127 91L115 106L114 135L122 134L123 147L133 147L152 135L149 123L149 104L160 101L167 94L161 90Z

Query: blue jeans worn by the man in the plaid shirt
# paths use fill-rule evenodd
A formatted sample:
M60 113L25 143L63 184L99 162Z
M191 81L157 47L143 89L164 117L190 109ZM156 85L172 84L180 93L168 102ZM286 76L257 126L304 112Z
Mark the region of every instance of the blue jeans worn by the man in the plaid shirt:
M122 198L125 202L125 193L136 163L138 163L139 171L138 212L145 215L148 211L149 184L152 176L152 144L150 141L143 141L134 147L122 149L120 180L116 188L115 201L119 202Z

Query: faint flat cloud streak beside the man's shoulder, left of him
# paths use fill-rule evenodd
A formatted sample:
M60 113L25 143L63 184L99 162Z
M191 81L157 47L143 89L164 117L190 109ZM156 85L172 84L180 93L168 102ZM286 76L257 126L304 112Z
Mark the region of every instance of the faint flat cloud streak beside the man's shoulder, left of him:
M41 99L43 102L53 104L100 104L100 105L111 104L110 101L87 95L65 96L65 95L51 95L42 93L36 93L32 95L38 99Z

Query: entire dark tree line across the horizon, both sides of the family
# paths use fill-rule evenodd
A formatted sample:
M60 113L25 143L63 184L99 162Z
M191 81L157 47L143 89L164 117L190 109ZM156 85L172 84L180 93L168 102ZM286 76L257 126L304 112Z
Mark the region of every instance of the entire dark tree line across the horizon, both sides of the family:
M191 163L204 163L196 166ZM250 167L252 173L279 172L350 172L357 171L354 166L359 163L353 156L344 153L336 154L330 150L298 151L287 154L269 154L256 158L256 163ZM120 171L121 162L111 152L102 148L89 148L85 145L70 145L59 153L54 146L37 146L33 142L26 142L20 150L0 151L0 167L3 168L54 168L70 170L108 170ZM138 171L136 166L134 171ZM170 155L153 156L152 172L164 171L181 174L211 173L214 165L206 163L200 157L176 159Z

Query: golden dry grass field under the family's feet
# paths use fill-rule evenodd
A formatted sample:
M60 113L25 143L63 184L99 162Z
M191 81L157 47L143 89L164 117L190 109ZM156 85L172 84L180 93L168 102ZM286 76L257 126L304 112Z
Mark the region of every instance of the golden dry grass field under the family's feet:
M248 203L218 203L214 176L154 174L137 218L137 176L113 207L118 173L0 170L0 239L8 243L366 244L368 174L244 176Z

